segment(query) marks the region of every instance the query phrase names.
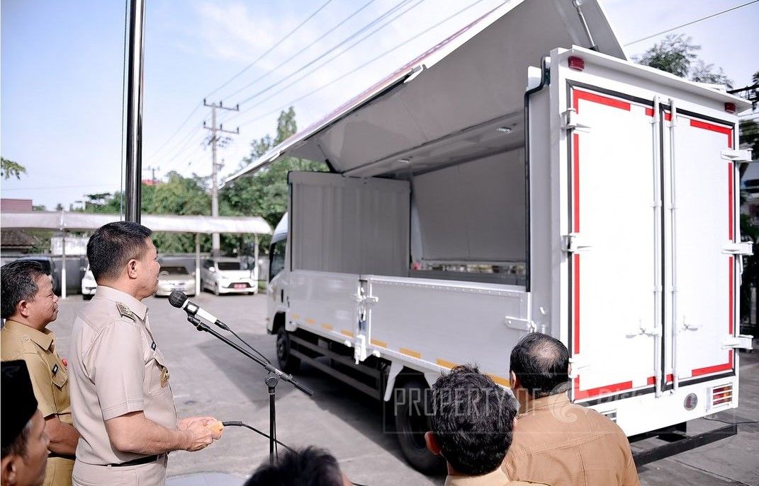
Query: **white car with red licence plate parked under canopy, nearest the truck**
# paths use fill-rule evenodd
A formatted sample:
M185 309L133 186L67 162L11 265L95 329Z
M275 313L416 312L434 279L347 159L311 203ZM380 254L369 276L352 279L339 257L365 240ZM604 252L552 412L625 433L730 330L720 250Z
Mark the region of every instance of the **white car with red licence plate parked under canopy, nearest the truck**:
M257 293L258 271L255 265L231 257L215 257L203 261L200 288L221 293Z

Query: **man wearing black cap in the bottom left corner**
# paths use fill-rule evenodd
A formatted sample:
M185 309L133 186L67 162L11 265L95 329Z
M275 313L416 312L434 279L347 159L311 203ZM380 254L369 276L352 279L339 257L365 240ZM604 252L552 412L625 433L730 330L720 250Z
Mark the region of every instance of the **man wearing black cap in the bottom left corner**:
M49 439L23 359L2 362L2 470L0 483L39 486L45 481Z

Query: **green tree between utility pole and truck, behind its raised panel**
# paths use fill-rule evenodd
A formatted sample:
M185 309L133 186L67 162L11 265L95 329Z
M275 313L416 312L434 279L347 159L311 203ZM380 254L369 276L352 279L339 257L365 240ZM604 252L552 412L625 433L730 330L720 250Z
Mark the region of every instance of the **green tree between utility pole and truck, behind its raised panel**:
M240 168L257 160L266 154L269 149L284 142L289 136L298 130L295 121L295 111L291 107L282 111L277 119L276 136L272 139L266 135L250 144L250 156L244 158ZM223 201L220 214L261 216L272 225L276 226L282 215L287 211L288 184L287 174L290 171L327 171L324 162L307 161L301 158L284 157L271 165L260 169L250 177L241 177L231 184L225 185L219 193ZM248 243L246 241L238 242ZM260 241L262 248L268 247L269 237L263 237Z

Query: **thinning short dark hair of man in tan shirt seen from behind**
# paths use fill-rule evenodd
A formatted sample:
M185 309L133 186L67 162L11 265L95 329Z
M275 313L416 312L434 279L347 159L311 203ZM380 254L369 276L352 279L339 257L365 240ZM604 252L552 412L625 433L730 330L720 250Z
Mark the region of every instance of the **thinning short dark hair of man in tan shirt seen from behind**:
M514 346L509 368L534 398L559 394L569 381L569 351L548 334L530 333Z

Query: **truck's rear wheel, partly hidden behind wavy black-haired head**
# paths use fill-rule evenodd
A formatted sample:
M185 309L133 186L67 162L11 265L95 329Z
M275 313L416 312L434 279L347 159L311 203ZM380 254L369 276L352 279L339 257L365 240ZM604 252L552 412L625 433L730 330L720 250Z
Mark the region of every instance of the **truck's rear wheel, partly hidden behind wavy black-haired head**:
M422 381L413 380L394 390L395 431L403 455L411 466L427 475L440 474L446 470L446 462L427 450L424 433L430 431L429 387Z

